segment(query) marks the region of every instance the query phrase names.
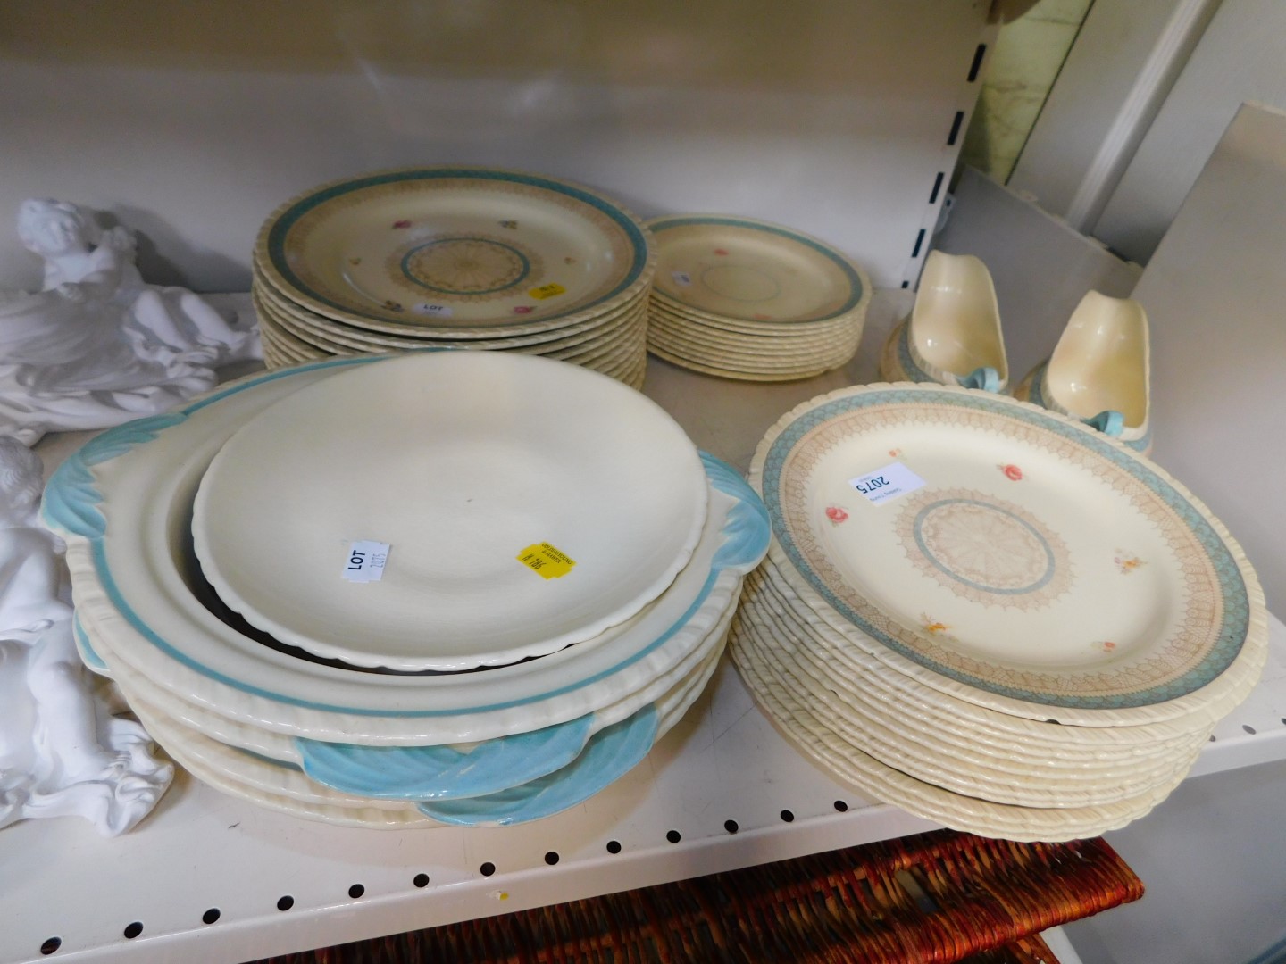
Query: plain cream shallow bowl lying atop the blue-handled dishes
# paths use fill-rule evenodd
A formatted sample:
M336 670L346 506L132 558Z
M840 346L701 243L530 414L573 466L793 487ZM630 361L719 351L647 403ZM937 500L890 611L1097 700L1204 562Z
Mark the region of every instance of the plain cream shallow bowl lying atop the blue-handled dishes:
M201 482L193 541L220 598L283 643L458 671L637 613L691 558L706 491L696 447L638 392L544 359L417 352L251 419Z

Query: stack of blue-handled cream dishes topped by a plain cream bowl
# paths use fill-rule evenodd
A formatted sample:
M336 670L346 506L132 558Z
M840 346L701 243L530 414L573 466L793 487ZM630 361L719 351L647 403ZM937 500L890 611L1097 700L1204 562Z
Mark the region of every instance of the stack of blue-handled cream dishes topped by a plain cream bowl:
M702 692L763 504L653 402L493 352L257 375L49 483L77 640L195 776L360 826L547 816Z

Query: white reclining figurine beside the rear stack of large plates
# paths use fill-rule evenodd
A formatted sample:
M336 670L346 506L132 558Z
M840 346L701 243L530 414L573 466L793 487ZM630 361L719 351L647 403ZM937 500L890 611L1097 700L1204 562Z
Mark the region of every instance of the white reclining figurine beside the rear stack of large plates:
M257 330L185 288L147 284L126 228L27 201L18 238L45 276L40 292L0 292L0 436L32 445L154 415L212 388L215 369L261 357Z

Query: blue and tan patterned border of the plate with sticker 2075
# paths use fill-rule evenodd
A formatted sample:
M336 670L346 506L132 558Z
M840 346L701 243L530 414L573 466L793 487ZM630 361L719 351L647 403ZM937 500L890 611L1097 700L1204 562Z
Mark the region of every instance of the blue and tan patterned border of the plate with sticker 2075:
M1148 654L1102 672L1010 670L953 652L881 613L829 564L811 535L817 524L804 479L820 452L878 424L954 425L1001 432L1046 449L1097 476L1168 540L1179 566L1183 616ZM1192 501L1115 442L1034 407L979 392L872 388L824 401L795 418L772 442L763 467L773 533L809 585L853 626L907 659L948 679L1015 699L1076 708L1128 708L1192 693L1236 659L1251 623L1237 559Z

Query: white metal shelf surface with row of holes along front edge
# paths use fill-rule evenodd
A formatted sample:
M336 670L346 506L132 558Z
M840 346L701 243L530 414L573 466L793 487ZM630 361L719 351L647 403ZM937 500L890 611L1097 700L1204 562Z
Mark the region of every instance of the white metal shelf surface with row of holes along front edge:
M745 469L783 411L869 380L876 346L907 292L880 292L858 360L809 382L756 386L660 362L648 395L703 449ZM243 305L240 298L230 303ZM73 447L50 440L51 468ZM1286 627L1272 627L1264 684L1217 730L1197 772L1286 757ZM736 821L730 832L727 821ZM796 753L730 666L637 770L568 812L518 828L377 832L260 810L180 775L135 832L81 820L0 833L0 961L240 961L644 887L934 824L872 803ZM667 834L678 832L678 842ZM610 842L620 844L610 852ZM547 855L557 855L550 865ZM494 873L484 873L484 865ZM417 887L415 877L430 882ZM360 884L360 897L350 888ZM293 905L278 910L279 898ZM203 915L219 910L206 924ZM123 936L134 922L141 933ZM41 954L57 937L59 949Z

